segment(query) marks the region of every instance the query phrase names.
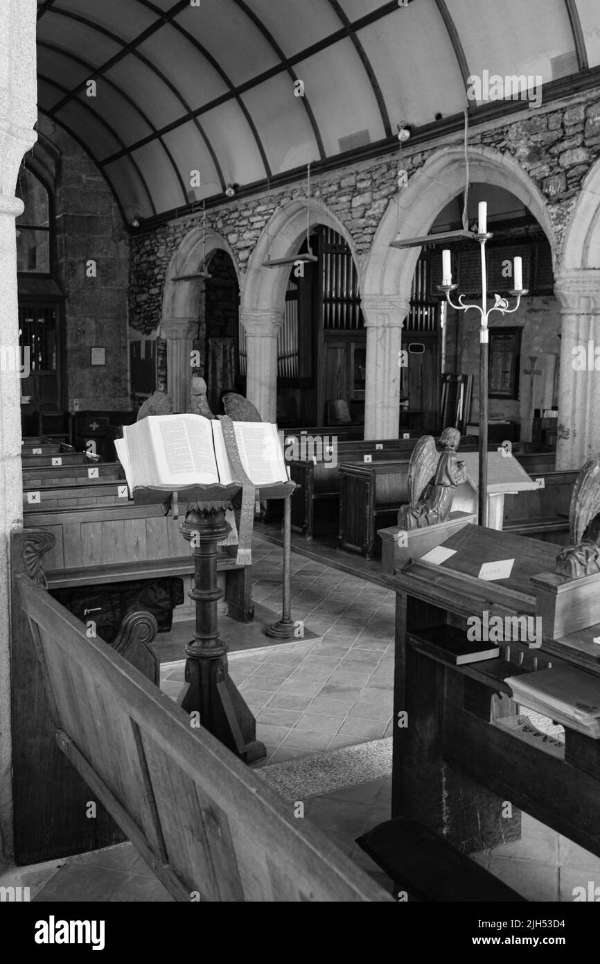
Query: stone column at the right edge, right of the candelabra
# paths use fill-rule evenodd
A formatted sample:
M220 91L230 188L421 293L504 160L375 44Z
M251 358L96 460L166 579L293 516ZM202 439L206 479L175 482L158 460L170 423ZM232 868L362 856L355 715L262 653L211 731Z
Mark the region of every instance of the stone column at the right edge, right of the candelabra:
M600 451L600 270L560 275L561 371L557 469L581 469Z

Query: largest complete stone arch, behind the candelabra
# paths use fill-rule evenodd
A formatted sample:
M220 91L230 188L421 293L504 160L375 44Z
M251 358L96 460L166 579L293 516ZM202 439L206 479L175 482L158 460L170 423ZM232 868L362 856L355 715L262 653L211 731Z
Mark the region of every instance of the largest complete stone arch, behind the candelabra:
M546 234L556 266L556 237L546 201L512 157L491 147L469 147L469 180L502 187L522 201ZM410 298L420 249L390 248L390 241L427 234L439 212L464 189L464 182L464 148L460 145L436 151L410 177L400 201L396 197L390 201L376 231L365 270L366 298L398 294Z

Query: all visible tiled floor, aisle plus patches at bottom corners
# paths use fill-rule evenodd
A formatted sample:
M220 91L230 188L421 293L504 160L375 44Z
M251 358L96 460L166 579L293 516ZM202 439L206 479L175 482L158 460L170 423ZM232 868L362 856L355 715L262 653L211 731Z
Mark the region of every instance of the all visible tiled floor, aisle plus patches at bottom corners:
M388 735L393 694L394 600L383 587L293 555L293 616L322 634L230 656L230 672L257 717L257 734L277 763ZM254 598L281 602L281 549L256 540ZM225 621L222 621L223 623ZM241 624L227 621L243 634ZM223 633L224 634L224 633ZM256 633L252 636L256 645ZM242 636L243 640L243 636ZM240 642L238 637L237 642ZM163 689L176 697L183 663L167 665ZM355 838L390 814L389 776L308 797L305 817L377 879L390 881ZM522 839L475 855L532 900L572 900L574 887L600 886L600 860L523 815ZM4 886L30 886L39 901L165 901L171 898L131 844L9 871Z

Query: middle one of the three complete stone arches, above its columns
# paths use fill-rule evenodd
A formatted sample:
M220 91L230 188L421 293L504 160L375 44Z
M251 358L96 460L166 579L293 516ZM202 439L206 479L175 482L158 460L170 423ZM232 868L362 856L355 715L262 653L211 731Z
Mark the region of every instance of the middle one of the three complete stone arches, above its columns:
M248 269L242 292L242 313L247 311L278 311L283 308L285 290L290 277L290 266L265 268L271 258L292 257L297 254L306 235L306 198L296 198L277 208L269 224L263 229L256 247L248 259ZM325 225L341 234L352 252L356 270L359 262L352 234L319 198L310 201L310 223ZM359 275L360 281L360 275Z

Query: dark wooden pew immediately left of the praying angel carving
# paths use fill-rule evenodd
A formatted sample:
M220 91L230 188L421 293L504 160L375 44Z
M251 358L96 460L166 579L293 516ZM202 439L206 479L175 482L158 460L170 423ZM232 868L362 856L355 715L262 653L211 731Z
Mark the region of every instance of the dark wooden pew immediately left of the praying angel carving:
M398 510L410 501L408 459L340 466L339 545L367 559L381 555L378 529L396 525Z

